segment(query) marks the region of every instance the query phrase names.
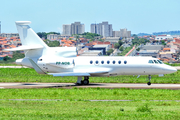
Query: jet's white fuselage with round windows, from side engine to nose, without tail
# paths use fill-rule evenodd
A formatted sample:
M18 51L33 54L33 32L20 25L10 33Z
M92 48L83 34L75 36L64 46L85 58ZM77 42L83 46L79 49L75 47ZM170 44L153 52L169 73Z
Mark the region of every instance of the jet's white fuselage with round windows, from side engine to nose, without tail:
M91 76L114 75L158 75L177 71L166 64L149 63L157 61L151 57L41 57L37 61L39 67L48 73L90 73ZM31 64L29 64L31 65Z

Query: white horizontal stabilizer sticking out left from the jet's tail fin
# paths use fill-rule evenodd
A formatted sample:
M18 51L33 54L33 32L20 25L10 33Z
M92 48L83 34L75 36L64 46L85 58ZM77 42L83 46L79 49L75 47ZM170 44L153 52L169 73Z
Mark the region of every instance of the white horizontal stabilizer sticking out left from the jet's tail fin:
M20 47L17 47L17 48L4 49L3 51L22 51L22 50L41 49L41 48L43 48L43 46L41 46L41 45L38 45L38 46L26 46L26 45L23 45L23 46L20 46Z

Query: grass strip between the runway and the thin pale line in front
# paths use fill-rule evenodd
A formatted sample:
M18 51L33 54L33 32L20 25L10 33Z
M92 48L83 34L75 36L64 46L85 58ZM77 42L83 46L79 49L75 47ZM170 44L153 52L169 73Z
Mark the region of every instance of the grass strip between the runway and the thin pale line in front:
M166 89L102 89L43 88L0 89L0 99L63 99L63 100L180 100L180 90Z

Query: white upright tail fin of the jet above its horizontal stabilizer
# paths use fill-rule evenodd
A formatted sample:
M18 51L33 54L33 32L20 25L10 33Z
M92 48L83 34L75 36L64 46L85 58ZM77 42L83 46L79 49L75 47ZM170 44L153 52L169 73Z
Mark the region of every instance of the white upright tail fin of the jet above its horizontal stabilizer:
M39 36L29 26L30 21L16 21L17 30L21 39L22 46L48 46L39 38Z

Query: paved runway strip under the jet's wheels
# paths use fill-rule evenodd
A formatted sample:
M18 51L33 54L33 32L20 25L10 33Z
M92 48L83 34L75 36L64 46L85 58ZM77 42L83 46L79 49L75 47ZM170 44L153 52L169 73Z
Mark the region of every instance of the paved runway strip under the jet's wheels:
M29 88L130 88L130 89L180 89L180 84L153 84L148 86L146 83L125 84L125 83L90 83L89 85L76 85L74 83L0 83L1 89L29 89Z

